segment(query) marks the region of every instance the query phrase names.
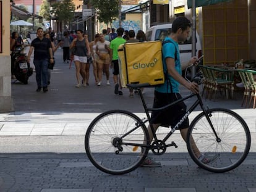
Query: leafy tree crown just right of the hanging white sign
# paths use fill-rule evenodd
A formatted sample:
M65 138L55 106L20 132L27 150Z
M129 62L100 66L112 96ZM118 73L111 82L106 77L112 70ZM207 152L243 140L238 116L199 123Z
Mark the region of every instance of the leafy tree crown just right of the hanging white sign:
M98 20L108 25L118 17L118 0L90 0L90 4L98 9Z

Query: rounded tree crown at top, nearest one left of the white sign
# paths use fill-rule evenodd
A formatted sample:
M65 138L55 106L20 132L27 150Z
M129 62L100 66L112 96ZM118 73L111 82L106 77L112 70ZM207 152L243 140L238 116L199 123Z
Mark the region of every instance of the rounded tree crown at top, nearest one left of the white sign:
M67 24L74 19L75 4L72 0L56 2L52 7L53 10L51 10L51 14L53 14L60 22Z

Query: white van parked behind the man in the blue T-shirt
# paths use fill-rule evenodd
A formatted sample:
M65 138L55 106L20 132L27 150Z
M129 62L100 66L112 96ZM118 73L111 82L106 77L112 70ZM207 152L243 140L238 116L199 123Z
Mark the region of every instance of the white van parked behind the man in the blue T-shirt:
M154 25L148 28L146 32L147 41L163 41L168 33L171 31L171 23L162 24L162 25ZM181 63L189 62L189 59L192 57L192 33L190 33L189 38L186 41L179 43L179 52L181 57ZM202 47L200 43L200 38L196 33L196 56L199 58L202 56Z

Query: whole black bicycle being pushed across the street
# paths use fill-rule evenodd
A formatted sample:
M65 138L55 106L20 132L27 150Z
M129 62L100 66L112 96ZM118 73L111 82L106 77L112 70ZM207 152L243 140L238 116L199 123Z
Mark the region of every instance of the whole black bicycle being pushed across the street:
M137 115L124 110L103 112L90 123L85 135L85 150L88 159L96 168L103 172L118 175L131 172L139 167L151 150L153 154L161 155L166 148L176 143L166 143L168 138L182 122L199 105L202 112L190 123L187 133L187 150L192 160L202 169L210 172L228 172L238 167L244 161L250 150L250 131L242 117L229 109L208 109L203 105L200 94L189 94L171 104L161 108L150 108L143 98L140 88L148 85L127 85L139 92L140 99L147 118L140 119ZM159 140L153 132L153 142L149 143L148 130L145 123L153 126L150 111L164 110L168 107L197 97L177 125ZM200 152L218 155L218 159L211 164L203 164L192 150L192 140ZM145 140L145 141L144 141Z

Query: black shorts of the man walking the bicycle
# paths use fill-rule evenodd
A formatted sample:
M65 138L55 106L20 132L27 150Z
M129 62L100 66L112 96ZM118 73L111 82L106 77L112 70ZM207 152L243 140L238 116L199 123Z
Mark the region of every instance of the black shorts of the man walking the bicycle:
M171 102L181 99L181 94L179 93L160 93L155 91L155 99L153 108L159 108L170 104ZM179 102L174 106L164 109L163 111L152 111L151 119L153 124L161 124L162 127L172 128L181 120L181 118L186 114L187 106L184 102ZM186 118L184 122L177 129L188 128L189 119Z

